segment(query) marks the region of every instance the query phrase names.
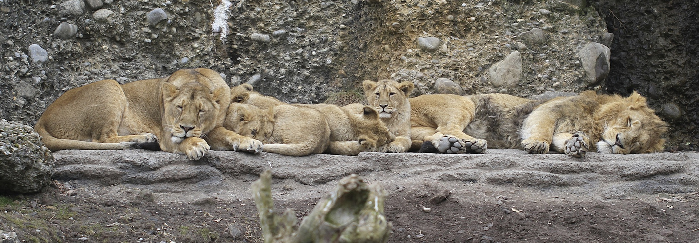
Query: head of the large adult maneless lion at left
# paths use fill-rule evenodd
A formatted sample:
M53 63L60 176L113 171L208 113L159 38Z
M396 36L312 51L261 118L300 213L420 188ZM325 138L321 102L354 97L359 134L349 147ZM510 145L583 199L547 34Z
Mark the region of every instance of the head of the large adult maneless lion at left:
M219 110L224 109L226 88L214 91L196 81L175 86L165 82L162 86L162 124L171 132L173 143L180 143L188 136L201 137L216 127Z

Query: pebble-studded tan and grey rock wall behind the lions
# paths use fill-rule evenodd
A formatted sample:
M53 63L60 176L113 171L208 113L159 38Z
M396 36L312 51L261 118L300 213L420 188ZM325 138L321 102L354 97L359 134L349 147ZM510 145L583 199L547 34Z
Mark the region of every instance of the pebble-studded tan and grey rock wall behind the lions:
M604 91L605 77L617 76L610 73L613 36L598 6L572 0L0 0L6 19L0 22L0 99L10 101L0 104L0 116L34 125L70 88L194 67L287 102L361 93L364 79L387 78L414 82L414 95Z

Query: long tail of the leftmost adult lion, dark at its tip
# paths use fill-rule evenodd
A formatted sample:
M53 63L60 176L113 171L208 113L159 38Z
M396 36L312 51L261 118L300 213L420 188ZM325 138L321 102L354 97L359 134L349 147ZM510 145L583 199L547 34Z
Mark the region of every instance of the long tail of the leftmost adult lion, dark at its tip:
M37 125L34 127L34 132L41 136L41 142L44 146L51 150L52 152L58 150L66 149L80 149L80 150L123 150L123 149L147 149L147 150L160 150L160 146L157 142L151 143L134 143L134 142L122 142L122 143L93 143L87 141L77 141L70 139L59 139L52 136L47 132L43 126Z

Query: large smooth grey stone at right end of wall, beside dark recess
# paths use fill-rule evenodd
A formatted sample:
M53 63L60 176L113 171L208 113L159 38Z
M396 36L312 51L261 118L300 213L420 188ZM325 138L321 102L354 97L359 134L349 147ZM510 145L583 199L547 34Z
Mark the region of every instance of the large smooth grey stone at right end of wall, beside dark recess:
M578 52L580 63L587 77L587 85L600 84L610 73L610 47L591 42Z

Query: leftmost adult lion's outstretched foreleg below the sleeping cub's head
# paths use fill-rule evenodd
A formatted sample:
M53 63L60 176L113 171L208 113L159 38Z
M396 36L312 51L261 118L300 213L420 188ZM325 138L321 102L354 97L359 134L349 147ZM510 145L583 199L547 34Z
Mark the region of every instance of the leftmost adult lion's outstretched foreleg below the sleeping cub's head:
M206 135L206 141L213 150L234 150L258 153L262 142L237 134L225 127L216 127Z

